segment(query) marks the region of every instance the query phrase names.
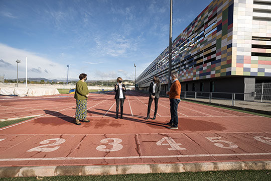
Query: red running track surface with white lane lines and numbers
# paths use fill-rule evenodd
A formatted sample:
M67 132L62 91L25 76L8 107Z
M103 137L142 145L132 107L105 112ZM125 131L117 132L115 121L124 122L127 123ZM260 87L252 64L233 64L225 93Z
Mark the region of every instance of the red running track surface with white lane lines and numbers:
M73 95L1 96L0 119L43 115L0 128L0 166L271 160L270 118L181 101L179 129L170 130L168 98L156 120L144 119L147 105L146 95L127 92L116 120L113 94L92 94L90 123L77 126Z

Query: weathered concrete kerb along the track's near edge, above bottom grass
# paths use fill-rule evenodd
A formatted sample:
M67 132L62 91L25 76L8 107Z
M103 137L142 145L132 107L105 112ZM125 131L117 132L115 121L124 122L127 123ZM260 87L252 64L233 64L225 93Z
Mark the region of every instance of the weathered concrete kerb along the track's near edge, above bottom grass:
M262 170L271 169L271 161L195 162L120 165L62 165L0 167L0 177L113 175L129 173L170 173L185 171Z

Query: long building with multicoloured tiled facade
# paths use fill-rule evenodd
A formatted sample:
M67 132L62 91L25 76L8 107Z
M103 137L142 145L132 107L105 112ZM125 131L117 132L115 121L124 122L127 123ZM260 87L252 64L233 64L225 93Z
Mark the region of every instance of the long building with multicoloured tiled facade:
M168 48L138 76L140 90L154 75L168 89ZM173 41L176 71L182 91L250 93L271 82L271 1L212 1Z

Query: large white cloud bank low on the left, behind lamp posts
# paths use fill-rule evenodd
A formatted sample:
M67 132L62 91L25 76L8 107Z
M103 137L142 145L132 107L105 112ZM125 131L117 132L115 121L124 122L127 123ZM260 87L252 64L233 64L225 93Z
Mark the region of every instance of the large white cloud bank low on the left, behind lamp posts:
M17 63L19 59L19 77L26 75L26 57L28 57L28 77L63 78L67 76L66 65L37 55L37 53L16 49L0 43L0 72L7 78L16 78ZM5 60L5 61L4 61ZM3 65L3 66L1 66ZM77 77L76 73L70 72L71 77Z

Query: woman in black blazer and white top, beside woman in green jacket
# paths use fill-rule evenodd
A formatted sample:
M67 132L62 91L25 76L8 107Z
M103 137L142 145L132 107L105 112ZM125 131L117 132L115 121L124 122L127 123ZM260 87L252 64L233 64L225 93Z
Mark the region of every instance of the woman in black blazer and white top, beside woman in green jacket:
M116 100L116 119L118 119L118 107L119 107L119 102L120 102L120 119L122 119L122 114L123 114L123 103L125 99L125 93L126 88L125 85L122 83L122 78L117 77L117 83L115 84L115 100Z

